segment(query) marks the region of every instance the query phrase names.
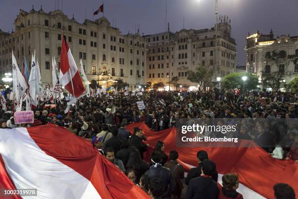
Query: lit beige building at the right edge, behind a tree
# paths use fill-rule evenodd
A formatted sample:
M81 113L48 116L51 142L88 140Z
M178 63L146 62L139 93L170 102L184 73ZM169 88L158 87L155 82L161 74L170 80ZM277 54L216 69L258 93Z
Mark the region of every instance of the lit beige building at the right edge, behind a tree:
M277 67L271 67L266 63L266 56L271 56L273 51L277 53L283 52L285 56L296 55L298 57L298 36L290 37L289 35L281 35L274 38L271 30L270 34L260 34L259 31L246 37L246 71L256 74L259 82L261 82L262 72L272 73L277 71ZM283 68L284 67L284 68ZM284 88L298 74L298 64L290 63L287 67L280 64L279 70L284 71L284 78L280 88ZM265 88L262 86L264 89Z

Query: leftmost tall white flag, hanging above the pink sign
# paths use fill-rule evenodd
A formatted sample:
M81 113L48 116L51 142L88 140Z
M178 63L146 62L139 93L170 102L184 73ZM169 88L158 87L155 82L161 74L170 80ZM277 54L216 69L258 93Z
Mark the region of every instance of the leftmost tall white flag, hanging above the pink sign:
M22 73L19 71L19 66L17 64L17 60L14 56L14 52L12 52L12 63L13 63L13 90L15 92L16 101L19 102L20 98L26 91L27 83L22 76Z

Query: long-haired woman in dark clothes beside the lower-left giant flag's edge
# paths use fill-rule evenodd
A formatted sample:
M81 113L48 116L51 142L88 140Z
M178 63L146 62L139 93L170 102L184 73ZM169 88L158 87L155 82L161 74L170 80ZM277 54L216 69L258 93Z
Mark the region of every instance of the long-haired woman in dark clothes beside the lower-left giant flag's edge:
M136 183L139 183L141 176L149 169L149 164L141 159L139 151L130 153L130 157L126 163L126 169L134 169L136 175Z

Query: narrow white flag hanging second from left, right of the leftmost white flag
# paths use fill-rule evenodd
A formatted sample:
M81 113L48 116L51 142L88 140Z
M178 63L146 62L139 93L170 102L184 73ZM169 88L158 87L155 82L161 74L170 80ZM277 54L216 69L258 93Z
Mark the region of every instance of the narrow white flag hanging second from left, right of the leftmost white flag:
M32 55L31 59L31 72L30 72L30 77L29 77L29 94L31 97L31 104L34 106L37 106L38 104L38 94L39 94L39 74L37 70L37 63L35 60L35 51L34 54Z

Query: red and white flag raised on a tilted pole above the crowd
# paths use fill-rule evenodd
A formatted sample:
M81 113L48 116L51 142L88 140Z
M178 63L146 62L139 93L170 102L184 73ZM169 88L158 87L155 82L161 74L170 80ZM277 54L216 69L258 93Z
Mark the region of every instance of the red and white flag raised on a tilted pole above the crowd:
M59 82L76 98L85 92L85 87L77 70L74 57L62 34Z

